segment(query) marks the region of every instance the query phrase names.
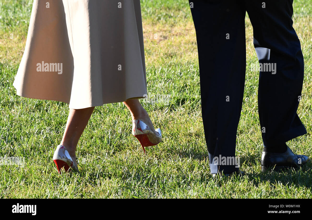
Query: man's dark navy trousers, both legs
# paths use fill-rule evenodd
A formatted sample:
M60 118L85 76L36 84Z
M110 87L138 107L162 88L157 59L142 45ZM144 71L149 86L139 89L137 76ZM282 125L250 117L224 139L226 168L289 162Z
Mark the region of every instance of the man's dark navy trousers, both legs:
M217 165L214 159L220 155L235 156L246 72L246 11L253 26L259 63L272 64L272 69L263 68L259 76L258 110L263 144L270 148L306 134L296 113L304 61L292 27L292 2L189 1L197 37L202 120L212 174L218 170L224 173L238 170L235 164L222 165L219 160Z

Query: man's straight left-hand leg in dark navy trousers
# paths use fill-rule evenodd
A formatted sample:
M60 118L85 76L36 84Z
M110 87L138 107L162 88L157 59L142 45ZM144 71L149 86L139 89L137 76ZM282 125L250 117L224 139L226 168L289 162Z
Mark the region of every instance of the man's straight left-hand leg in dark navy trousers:
M246 71L246 10L240 0L189 3L197 36L202 120L211 173L232 173L238 171L234 163L220 162L222 157L235 157Z

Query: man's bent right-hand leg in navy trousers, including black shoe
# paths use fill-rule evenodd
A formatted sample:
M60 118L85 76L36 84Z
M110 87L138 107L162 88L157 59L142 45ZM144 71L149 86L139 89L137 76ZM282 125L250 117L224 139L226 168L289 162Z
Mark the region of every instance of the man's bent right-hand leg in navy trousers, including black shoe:
M297 115L304 77L300 41L292 27L292 0L245 1L262 70L258 105L264 150L261 169L294 167L309 158L295 155L286 141L306 134Z

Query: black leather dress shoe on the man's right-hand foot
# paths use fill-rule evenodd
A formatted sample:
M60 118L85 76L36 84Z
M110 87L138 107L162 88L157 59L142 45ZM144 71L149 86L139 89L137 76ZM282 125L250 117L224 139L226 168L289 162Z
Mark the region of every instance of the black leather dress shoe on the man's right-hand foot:
M263 151L261 156L261 171L264 172L268 169L279 171L291 167L297 168L302 164L306 164L308 160L308 156L294 154L289 147L287 147L285 153L270 153Z

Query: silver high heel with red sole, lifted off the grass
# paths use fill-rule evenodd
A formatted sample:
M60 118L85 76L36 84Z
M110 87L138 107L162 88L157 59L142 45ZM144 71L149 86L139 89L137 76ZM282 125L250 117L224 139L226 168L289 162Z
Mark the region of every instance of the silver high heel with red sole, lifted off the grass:
M144 121L132 120L132 134L139 140L144 154L146 154L144 147L157 145L162 140L160 128L155 129L155 131L157 134Z

